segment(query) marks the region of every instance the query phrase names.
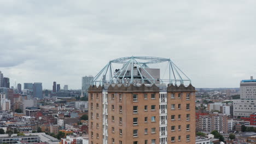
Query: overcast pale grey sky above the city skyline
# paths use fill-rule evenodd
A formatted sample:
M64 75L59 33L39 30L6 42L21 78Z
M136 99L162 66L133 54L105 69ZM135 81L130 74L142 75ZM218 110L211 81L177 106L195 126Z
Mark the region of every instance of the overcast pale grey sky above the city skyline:
M256 1L0 1L0 70L81 88L111 59L171 58L195 87L256 78Z

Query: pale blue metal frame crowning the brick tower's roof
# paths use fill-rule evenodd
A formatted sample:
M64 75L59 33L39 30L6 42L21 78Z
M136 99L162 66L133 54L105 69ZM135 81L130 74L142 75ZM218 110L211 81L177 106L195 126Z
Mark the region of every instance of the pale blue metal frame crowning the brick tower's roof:
M105 67L92 79L94 85L104 85L104 83L118 84L118 83L135 83L136 80L140 80L141 83L147 82L154 84L159 79L154 79L152 75L149 74L147 69L152 64L167 63L168 69L168 79L160 79L161 83L177 83L183 84L184 82L191 83L191 80L187 75L183 73L181 69L175 65L170 58L160 58L160 57L142 57L142 56L131 56L131 57L121 57L109 61ZM123 64L120 69L114 71L113 64ZM129 69L130 68L130 69ZM133 75L135 72L138 75ZM142 75L141 70L146 71L147 76ZM127 71L131 71L131 75L127 76Z

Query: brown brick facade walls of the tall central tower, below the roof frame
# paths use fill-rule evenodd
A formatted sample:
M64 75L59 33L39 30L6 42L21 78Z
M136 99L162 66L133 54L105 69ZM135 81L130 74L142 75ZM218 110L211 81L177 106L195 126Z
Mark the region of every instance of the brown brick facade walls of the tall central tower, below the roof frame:
M107 124L108 137L103 137L102 95L107 95ZM136 87L130 85L89 88L89 143L101 144L107 138L107 143L160 143L160 92L163 90L152 85ZM167 142L166 143L195 143L195 88L183 85L168 86L167 93ZM172 95L174 94L174 98ZM189 95L189 99L187 98ZM98 95L98 97L96 96ZM181 95L178 98L178 95ZM98 109L97 105L98 104ZM172 110L172 106L174 110ZM179 105L180 104L180 105ZM189 109L187 110L187 104ZM92 107L91 107L92 106ZM179 106L179 107L178 107ZM92 109L91 109L92 108ZM121 110L120 110L121 109ZM96 118L98 113L98 118ZM92 114L92 119L91 119ZM189 117L187 118L187 114ZM172 115L174 119L172 121ZM181 119L178 119L181 115ZM121 122L120 122L121 119ZM91 127L91 124L93 127ZM98 129L96 128L98 124ZM189 129L187 130L187 124ZM181 130L178 130L181 125ZM175 126L172 131L172 126ZM147 130L146 130L147 129ZM153 131L152 131L153 130ZM98 134L98 137L97 137ZM92 136L93 135L93 136ZM187 135L189 135L187 139ZM175 137L174 141L171 137ZM181 139L179 140L179 137ZM113 141L114 140L114 141Z

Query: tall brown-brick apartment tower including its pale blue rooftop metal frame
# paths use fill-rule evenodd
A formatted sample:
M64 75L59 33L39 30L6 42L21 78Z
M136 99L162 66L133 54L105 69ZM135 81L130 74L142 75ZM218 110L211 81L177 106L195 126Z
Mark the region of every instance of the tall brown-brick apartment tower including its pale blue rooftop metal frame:
M194 144L195 87L184 86L185 79L170 59L165 59L169 70L173 77L179 75L181 79L168 79L165 84L160 79L160 69L146 67L157 61L152 61L154 57L148 58L149 63L136 61L145 57L125 58L129 64L119 58L123 67L112 76L111 63L117 59L110 61L110 70L108 63L102 70L103 76L101 72L96 75L95 85L89 87L89 143ZM147 65L143 67L144 63Z

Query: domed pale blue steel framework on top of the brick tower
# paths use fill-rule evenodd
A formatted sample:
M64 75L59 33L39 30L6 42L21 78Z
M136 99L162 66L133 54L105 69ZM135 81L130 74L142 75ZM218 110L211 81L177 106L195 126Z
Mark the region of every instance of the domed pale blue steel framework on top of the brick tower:
M164 64L164 66L160 67L159 64ZM92 82L94 85L104 85L104 83L133 85L173 83L179 85L184 82L191 83L191 80L170 58L131 56L109 61Z

